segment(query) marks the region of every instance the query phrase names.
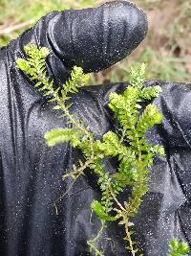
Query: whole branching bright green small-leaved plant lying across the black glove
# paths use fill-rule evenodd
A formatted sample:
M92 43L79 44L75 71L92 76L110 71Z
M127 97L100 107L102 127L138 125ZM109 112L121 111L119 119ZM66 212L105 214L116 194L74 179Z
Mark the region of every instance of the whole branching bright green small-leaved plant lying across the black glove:
M144 87L145 65L137 70L132 69L130 85L122 95L116 92L109 96L109 107L119 124L115 132L109 130L100 140L91 129L78 120L70 111L68 100L78 89L86 85L89 76L83 70L74 66L71 79L60 89L53 80L47 77L46 58L49 55L47 48L37 49L35 45L25 46L27 59L18 58L17 67L20 68L34 82L34 86L49 96L49 101L54 104L53 109L61 110L61 117L66 117L70 128L55 128L46 132L45 139L48 146L69 142L74 148L83 152L85 160L79 159L73 170L62 176L75 181L79 176L85 175L84 171L92 169L98 176L97 184L100 187L101 199L92 202L92 210L100 220L101 227L96 238L88 241L90 251L103 256L104 253L97 247L103 230L109 221L117 221L123 225L126 236L127 250L134 256L138 252L136 242L132 241L133 221L138 213L138 207L143 196L148 191L148 174L153 165L156 154L164 155L164 149L159 145L149 144L146 140L146 132L161 122L161 113L156 105L149 104L141 109L141 103L148 103L157 97L161 88L159 86ZM139 114L139 110L141 114ZM117 158L117 172L110 175L105 168L104 158ZM129 198L121 202L119 194L126 188L131 188ZM172 256L175 256L174 254Z

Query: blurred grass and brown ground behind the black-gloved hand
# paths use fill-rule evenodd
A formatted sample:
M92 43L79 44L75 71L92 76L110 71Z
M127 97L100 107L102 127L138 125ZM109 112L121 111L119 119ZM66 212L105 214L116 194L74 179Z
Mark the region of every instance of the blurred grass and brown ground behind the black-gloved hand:
M53 10L98 6L104 0L0 0L0 46ZM131 57L92 76L94 83L128 81L129 67L146 62L147 78L191 81L191 0L132 0L148 15L149 34Z

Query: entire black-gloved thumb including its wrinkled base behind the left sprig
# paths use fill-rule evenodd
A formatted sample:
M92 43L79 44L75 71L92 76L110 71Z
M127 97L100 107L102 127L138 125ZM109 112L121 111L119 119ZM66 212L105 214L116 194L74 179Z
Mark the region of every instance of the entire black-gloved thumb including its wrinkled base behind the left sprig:
M114 1L98 8L52 12L42 17L11 43L11 53L22 52L29 42L48 47L52 52L49 71L56 80L64 81L74 65L86 73L108 68L128 56L146 33L144 12L132 3Z

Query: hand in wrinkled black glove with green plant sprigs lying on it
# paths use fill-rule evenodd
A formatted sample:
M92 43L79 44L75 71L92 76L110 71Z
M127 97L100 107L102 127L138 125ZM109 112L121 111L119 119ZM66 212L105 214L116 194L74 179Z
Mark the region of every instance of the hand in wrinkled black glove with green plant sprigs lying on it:
M94 177L79 179L59 201L55 215L53 201L70 187L61 175L71 170L78 151L64 144L50 149L44 134L66 126L53 105L15 67L24 57L29 42L51 50L49 76L62 86L74 65L86 72L107 68L129 55L147 32L145 14L126 1L107 3L97 9L52 12L31 29L1 49L1 253L2 255L90 255L87 240L96 235L99 222L90 222L90 204L99 197ZM150 192L138 212L136 240L144 255L166 255L168 240L178 236L191 243L189 169L190 88L182 84L151 81L163 92L155 103L163 112L160 128L148 139L163 144L166 159L157 159ZM96 134L114 126L107 108L108 95L124 90L126 84L90 86L73 98L73 111ZM102 240L105 255L127 255L123 231L109 226Z

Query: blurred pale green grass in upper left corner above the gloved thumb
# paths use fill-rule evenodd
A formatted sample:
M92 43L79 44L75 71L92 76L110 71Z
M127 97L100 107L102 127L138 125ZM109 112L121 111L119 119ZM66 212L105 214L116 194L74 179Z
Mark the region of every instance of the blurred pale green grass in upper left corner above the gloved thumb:
M96 1L93 0L0 0L0 46L8 44L48 12L94 6ZM26 22L29 25L25 26ZM24 27L11 33L6 32L6 29L9 31L9 28L17 24L24 24Z

